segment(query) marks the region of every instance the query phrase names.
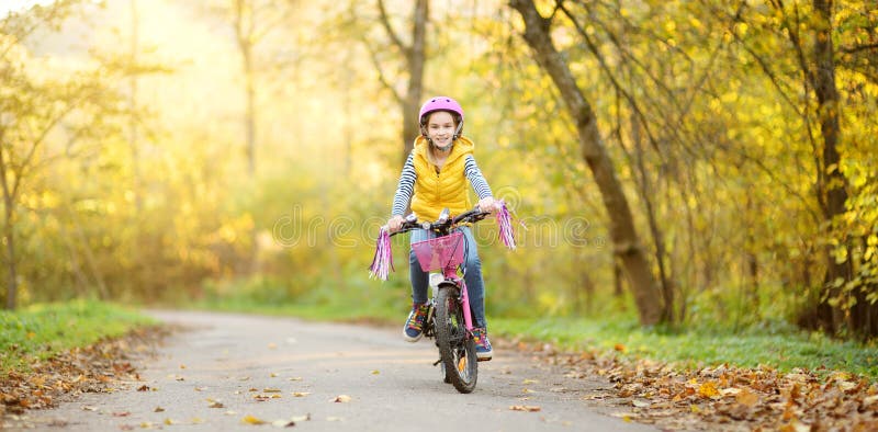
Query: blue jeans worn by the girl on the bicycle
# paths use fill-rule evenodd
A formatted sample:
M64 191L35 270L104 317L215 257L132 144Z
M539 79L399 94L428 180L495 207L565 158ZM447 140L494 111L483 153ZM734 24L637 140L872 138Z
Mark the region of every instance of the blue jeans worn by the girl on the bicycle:
M482 278L482 260L479 259L479 249L475 246L475 238L470 227L463 226L458 228L463 232L463 238L466 241L466 257L464 265L466 273L463 274L463 281L466 282L466 294L470 297L470 309L473 311L473 326L487 327L485 320L485 281ZM412 231L410 242L424 241L436 237L430 230L416 229ZM427 289L429 274L420 270L415 251L408 251L408 275L412 280L412 299L415 303L427 303Z

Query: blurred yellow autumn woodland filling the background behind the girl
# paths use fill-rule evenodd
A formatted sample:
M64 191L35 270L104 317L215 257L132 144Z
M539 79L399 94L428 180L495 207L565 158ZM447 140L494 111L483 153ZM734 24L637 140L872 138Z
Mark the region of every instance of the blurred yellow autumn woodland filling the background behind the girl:
M449 94L527 227L511 254L479 227L488 314L878 332L874 2L27 3L0 11L8 308L402 314L405 270L364 269L399 136Z

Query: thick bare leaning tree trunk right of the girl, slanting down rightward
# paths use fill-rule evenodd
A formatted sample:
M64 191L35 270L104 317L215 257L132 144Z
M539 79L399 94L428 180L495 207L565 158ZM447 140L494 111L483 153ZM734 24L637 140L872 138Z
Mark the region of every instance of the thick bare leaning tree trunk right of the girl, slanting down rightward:
M598 133L595 113L552 43L549 34L551 21L539 14L532 0L511 0L510 4L525 21L524 38L533 49L537 62L552 78L576 123L582 156L592 170L609 215L614 251L628 276L640 322L655 325L662 318L661 294L640 245L622 185Z

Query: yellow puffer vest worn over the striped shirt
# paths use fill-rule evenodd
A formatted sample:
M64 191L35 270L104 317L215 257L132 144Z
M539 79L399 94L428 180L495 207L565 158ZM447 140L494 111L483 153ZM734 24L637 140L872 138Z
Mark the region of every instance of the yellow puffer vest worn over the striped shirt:
M427 138L419 136L415 139L415 149L412 150L415 164L415 173L418 175L415 182L415 193L412 196L412 212L418 217L419 221L434 221L439 218L442 208L448 207L451 215L460 215L472 208L470 194L468 193L468 180L463 172L466 155L472 155L473 141L466 137L460 137L451 148L446 164L440 172L436 172L436 166L427 159L427 151L430 144Z

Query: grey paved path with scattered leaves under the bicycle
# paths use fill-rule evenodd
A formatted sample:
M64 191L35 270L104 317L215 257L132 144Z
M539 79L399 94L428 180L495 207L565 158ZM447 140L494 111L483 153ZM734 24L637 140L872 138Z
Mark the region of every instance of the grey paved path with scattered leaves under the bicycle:
M480 363L476 390L462 395L432 366L438 354L431 341L410 344L395 329L149 314L190 330L175 333L157 359L139 365L142 382L31 412L42 418L40 429L252 431L283 420L301 431L654 430L584 400L607 383L566 378L511 350L495 348L495 360ZM516 406L540 410L510 409Z

